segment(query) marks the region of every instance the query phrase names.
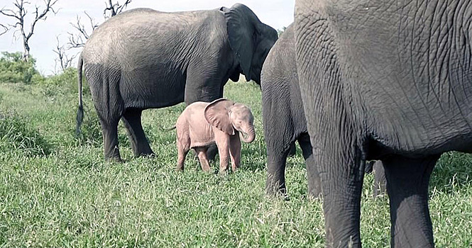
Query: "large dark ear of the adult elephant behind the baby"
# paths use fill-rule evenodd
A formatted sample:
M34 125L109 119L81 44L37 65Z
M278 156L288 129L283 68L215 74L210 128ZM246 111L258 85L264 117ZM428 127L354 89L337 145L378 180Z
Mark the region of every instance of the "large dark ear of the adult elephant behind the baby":
M251 9L243 4L234 4L231 9L226 9L224 16L226 17L229 45L238 57L246 81L249 81L251 80L251 61L256 47L254 44L256 40L254 23L259 19Z

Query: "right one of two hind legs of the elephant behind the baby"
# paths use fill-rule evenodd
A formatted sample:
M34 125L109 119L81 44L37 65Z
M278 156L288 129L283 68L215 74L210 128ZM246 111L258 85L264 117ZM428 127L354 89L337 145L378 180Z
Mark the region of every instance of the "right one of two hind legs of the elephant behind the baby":
M143 125L141 125L141 109L126 109L122 120L128 131L128 137L131 141L134 155L136 157L153 155L149 142L144 134Z

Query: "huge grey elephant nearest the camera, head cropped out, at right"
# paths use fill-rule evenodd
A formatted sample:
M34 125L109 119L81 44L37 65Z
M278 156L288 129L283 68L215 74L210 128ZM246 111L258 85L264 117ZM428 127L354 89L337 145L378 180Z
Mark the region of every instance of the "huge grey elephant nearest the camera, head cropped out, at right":
M428 184L472 152L471 1L297 0L297 71L327 247L361 247L366 159L381 159L392 247L434 247Z

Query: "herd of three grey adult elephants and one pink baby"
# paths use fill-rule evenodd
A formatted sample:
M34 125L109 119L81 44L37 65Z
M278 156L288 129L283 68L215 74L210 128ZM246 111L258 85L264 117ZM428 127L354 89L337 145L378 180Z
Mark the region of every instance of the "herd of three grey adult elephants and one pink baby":
M193 147L208 170L215 142L220 169L229 157L236 169L239 133L254 139L253 117L219 118L243 113L233 108L243 104L221 99L226 81L243 74L262 90L266 191L285 193L287 154L297 141L308 192L322 195L326 247L361 247L363 176L375 160L390 199L391 246L434 247L429 177L443 152L472 152L471 65L468 0L296 0L280 38L243 4L133 9L101 24L84 46L77 128L83 69L106 159L121 159L119 120L134 154L150 155L142 111L185 102L177 169Z

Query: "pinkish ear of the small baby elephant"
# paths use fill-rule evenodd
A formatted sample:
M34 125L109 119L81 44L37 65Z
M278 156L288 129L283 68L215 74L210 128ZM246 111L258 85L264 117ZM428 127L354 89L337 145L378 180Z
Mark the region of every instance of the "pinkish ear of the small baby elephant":
M234 105L233 101L229 101L225 98L219 98L205 108L204 115L208 123L215 128L227 133L234 135L233 123L229 119L229 109Z

